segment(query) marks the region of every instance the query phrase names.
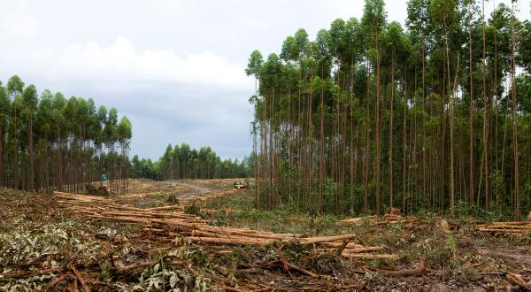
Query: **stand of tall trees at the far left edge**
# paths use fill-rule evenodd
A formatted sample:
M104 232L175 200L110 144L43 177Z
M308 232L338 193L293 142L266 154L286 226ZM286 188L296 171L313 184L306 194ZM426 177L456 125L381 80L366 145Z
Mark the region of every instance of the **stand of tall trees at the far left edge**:
M110 192L125 192L130 140L131 123L115 108L39 95L16 75L0 81L0 187L77 193L105 174Z

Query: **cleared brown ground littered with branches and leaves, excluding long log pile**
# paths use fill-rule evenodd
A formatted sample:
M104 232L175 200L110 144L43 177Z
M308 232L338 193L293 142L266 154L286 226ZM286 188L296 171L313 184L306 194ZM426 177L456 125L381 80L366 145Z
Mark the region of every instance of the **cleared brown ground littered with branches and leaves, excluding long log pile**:
M252 191L235 191L234 182L132 180L130 194L104 202L125 211L167 210L212 227L356 234L356 244L392 257L338 257L341 247L323 251L297 241L190 242L179 229L169 234L123 217L99 220L58 204L58 196L0 189L0 291L526 291L531 285L531 234L480 232L473 219L342 224L329 215L258 211Z

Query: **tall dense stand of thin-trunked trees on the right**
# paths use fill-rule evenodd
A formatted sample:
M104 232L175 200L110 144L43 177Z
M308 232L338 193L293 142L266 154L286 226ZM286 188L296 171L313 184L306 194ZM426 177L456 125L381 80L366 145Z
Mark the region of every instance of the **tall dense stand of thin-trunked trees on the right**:
M484 5L410 0L402 27L366 0L314 41L300 29L280 54L253 51L257 206L527 214L531 22L517 1Z

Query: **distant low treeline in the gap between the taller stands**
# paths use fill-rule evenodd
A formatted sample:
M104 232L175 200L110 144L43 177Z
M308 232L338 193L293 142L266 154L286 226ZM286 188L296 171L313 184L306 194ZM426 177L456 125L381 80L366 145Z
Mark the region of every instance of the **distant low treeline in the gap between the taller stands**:
M253 157L242 161L221 160L210 147L190 149L189 144L168 145L156 162L135 155L131 161L131 177L152 180L227 179L250 177L254 172Z

